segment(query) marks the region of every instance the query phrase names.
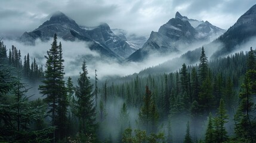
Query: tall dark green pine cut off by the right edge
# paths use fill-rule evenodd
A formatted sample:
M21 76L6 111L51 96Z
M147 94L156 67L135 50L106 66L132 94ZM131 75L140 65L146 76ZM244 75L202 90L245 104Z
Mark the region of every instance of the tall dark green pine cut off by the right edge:
M235 132L239 138L248 142L256 141L256 116L254 112L253 95L256 94L255 52L251 49L248 53L247 71L241 85L239 98L240 104L235 114Z

